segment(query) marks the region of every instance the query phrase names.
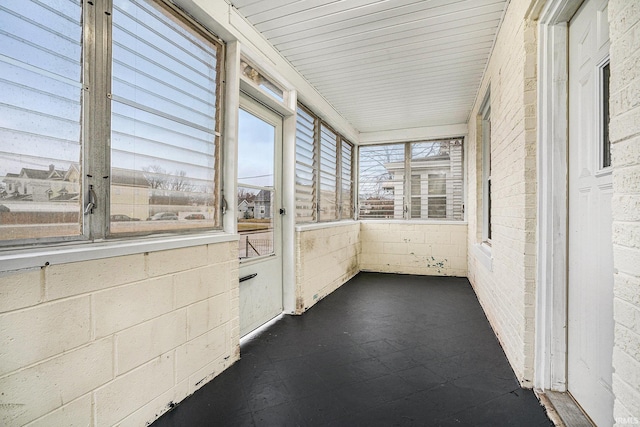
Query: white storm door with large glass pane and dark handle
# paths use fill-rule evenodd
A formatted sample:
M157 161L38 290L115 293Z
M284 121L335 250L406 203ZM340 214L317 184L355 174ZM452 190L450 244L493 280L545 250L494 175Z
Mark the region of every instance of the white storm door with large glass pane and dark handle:
M240 336L282 313L282 117L241 97L238 123Z

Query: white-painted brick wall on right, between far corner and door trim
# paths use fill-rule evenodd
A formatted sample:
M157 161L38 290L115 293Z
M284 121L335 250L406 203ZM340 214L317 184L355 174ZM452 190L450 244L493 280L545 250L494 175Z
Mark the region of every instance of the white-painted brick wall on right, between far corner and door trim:
M469 121L469 271L518 379L532 386L535 315L536 23L529 1L511 2ZM478 112L491 88L491 268L474 250L482 238L482 144Z

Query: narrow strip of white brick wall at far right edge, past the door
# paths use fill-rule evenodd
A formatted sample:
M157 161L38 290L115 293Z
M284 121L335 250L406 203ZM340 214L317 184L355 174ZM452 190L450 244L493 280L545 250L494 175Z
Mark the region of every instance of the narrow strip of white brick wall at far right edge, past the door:
M616 425L640 420L640 2L609 2Z

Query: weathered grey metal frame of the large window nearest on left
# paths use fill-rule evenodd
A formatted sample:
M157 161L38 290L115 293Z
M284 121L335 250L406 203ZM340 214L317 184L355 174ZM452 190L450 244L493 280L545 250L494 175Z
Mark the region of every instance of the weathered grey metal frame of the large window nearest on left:
M170 230L153 229L134 233L110 232L111 216L111 103L112 92L112 60L113 60L113 2L111 0L94 0L80 2L82 47L81 47L81 117L80 117L80 162L78 167L80 179L80 224L79 234L73 236L33 237L0 241L0 255L5 250L29 250L34 247L55 247L61 244L87 244L95 242L123 241L149 242L153 239L161 241L178 241L199 237L211 240L214 234L223 231L222 207L223 196L223 117L224 117L224 80L225 80L225 43L206 27L199 24L178 6L167 0L149 0L153 7L162 9L170 20L173 20L197 37L214 45L216 51L216 87L215 87L215 148L212 153L214 168L214 206L212 209L212 226L191 228L174 228ZM93 190L93 191L90 191ZM91 193L95 195L97 206L90 214L83 214ZM38 225L38 224L34 224ZM214 240L219 240L215 238ZM164 244L161 244L164 247Z

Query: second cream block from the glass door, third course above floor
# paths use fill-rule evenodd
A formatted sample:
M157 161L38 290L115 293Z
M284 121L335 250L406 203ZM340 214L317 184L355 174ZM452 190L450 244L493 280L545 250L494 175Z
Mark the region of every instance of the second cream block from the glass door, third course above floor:
M187 340L187 310L174 311L116 334L117 374L127 372Z

